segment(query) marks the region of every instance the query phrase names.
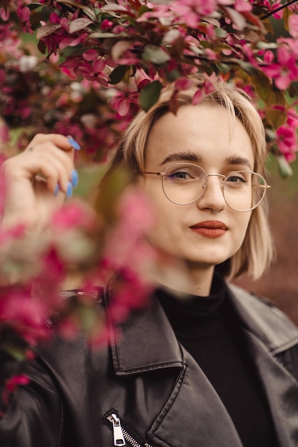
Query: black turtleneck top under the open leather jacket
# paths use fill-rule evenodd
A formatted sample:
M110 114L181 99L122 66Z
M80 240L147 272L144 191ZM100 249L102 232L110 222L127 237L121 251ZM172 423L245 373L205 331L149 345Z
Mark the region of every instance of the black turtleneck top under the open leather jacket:
M222 278L214 277L210 296L177 299L164 289L157 294L178 341L222 399L244 447L276 446L267 398Z

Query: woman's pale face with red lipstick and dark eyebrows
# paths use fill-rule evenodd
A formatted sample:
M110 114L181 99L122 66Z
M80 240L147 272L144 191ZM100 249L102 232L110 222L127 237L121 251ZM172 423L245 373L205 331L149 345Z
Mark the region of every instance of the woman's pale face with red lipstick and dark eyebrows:
M224 107L182 106L176 116L165 114L152 129L145 171L164 172L177 162L197 164L207 174L253 171L252 143L242 123L238 119L233 123ZM167 199L161 176L145 174L141 181L157 210L157 225L150 234L154 245L192 268L213 268L238 251L251 212L240 213L227 206L220 177L208 177L203 196L185 206ZM219 229L212 230L212 226Z

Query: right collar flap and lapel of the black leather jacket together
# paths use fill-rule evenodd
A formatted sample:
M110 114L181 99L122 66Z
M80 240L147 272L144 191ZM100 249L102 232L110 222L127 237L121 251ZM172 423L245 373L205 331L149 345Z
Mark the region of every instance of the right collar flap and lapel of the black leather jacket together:
M298 343L298 330L279 309L230 287L234 306L244 323L252 358L267 394L281 447L298 443L298 383L279 356Z

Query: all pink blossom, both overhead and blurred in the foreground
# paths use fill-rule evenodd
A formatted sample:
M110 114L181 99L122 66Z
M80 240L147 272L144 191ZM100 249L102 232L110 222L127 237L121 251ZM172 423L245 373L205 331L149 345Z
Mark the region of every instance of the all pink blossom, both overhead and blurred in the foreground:
M298 150L297 1L1 0L0 5L4 152L14 153L11 141L20 149L36 131L54 131L79 141L78 163L103 161L136 111L148 111L162 88L174 82L176 113L177 93L194 82L189 75L200 73L193 104L212 91L218 77L247 91L264 120L269 151L282 175L290 174ZM282 24L278 37L273 21ZM114 182L120 191L121 179ZM0 233L0 278L7 285L0 297L0 331L13 329L21 336L17 343L9 337L2 348L24 356L28 346L48 336L44 315L57 310L64 334L79 326L91 342L108 337L94 283L111 271L121 272L111 309L119 320L144 303L141 297L146 301L151 285L144 271L169 263L144 243L147 225L153 224L145 199L116 194L115 203L115 216L103 204L98 217L69 202L53 216L42 243L25 237L21 223ZM28 249L29 259L21 254ZM69 273L84 273L84 292L61 302L57 291Z

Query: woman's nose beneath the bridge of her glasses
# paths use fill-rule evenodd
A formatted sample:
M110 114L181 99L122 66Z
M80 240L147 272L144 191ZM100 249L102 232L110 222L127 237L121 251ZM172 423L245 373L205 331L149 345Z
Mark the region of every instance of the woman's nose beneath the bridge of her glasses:
M212 209L214 211L224 209L227 204L224 200L222 187L221 177L209 176L204 186L204 193L197 201L199 209Z

